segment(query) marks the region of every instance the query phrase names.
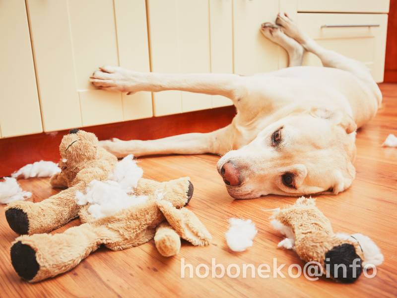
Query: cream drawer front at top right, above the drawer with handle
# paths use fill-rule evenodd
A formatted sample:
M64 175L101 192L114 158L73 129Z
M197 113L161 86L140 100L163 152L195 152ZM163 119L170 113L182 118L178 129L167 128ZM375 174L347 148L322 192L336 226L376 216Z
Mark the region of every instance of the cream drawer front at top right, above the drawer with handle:
M389 12L389 0L298 0L298 12Z

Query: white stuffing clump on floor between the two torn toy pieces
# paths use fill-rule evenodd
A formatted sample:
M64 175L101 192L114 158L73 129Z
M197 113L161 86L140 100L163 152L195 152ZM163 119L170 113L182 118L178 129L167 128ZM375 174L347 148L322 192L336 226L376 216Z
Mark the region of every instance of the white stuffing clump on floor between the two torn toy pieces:
M226 232L226 242L233 251L244 251L251 247L258 233L251 220L229 219L229 230Z

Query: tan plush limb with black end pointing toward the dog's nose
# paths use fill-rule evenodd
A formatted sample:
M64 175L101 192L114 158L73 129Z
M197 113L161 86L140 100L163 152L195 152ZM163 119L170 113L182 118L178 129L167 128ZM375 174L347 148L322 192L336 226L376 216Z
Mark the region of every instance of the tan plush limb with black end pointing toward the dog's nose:
M193 184L189 177L157 182L141 178L134 191L135 195L163 194L163 199L172 203L174 207L186 206L193 196Z

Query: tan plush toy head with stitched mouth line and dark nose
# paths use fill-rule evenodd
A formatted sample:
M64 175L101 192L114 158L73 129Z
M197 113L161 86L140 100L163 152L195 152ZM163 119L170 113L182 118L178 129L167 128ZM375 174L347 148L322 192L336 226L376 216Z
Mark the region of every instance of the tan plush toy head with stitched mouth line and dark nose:
M86 162L96 158L98 144L98 138L93 133L72 129L62 138L59 151L68 164Z

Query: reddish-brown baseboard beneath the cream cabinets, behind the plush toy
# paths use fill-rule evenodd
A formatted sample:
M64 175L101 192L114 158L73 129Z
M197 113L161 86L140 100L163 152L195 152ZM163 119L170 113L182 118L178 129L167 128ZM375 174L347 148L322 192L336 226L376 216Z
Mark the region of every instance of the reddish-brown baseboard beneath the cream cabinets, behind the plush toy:
M153 140L185 133L206 133L228 125L234 106L86 127L99 140ZM67 131L0 139L0 177L38 160L59 161L59 144Z

